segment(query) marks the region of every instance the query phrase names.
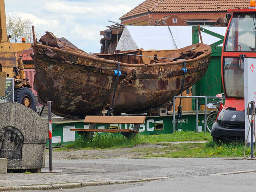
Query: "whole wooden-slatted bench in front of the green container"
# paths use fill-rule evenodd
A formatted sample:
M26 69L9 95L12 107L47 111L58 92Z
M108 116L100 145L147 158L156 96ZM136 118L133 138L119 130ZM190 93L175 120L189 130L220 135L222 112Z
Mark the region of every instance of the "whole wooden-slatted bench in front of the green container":
M130 138L131 136L135 136L136 133L139 133L140 124L143 124L145 121L145 116L86 116L84 119L84 123L90 123L88 129L70 129L70 131L77 131L78 134L84 132L84 134L92 133L92 132L111 132L118 133L120 132L122 135L126 136L126 138ZM96 129L96 123L107 123L107 124L134 124L133 129Z

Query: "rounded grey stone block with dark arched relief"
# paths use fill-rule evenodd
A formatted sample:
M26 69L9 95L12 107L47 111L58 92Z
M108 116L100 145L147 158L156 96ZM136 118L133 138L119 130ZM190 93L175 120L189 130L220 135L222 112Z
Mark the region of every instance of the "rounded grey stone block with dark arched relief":
M7 169L44 168L48 124L36 112L16 102L0 103L0 158Z

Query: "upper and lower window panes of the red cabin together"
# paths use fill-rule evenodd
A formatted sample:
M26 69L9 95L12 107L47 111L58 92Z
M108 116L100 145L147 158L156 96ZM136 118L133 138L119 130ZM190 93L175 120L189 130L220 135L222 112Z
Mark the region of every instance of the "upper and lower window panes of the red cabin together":
M255 52L255 12L234 12L224 43L223 81L228 98L244 98L244 63L240 55ZM256 53L256 52L255 52Z

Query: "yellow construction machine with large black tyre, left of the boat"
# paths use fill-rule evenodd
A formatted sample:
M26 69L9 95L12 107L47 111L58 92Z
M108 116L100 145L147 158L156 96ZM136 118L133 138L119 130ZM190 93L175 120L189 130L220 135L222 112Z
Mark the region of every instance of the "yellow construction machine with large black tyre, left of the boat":
M36 98L29 88L32 85L25 77L22 57L17 57L17 52L32 48L30 43L10 43L10 36L6 29L6 14L4 0L0 0L0 77L6 75L6 78L14 80L14 101L36 110ZM19 59L19 62L18 62ZM0 82L1 81L0 79ZM2 85L0 84L0 96L3 94ZM5 93L6 94L6 93ZM7 93L8 94L8 93ZM4 96L0 97L0 101Z

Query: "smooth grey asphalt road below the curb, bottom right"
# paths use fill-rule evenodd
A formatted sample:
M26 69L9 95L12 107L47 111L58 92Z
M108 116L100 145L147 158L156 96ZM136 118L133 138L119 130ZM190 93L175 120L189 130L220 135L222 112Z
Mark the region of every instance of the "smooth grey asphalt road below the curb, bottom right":
M63 192L242 192L255 191L256 172L228 175L177 177L151 182L63 189ZM52 190L59 192L60 190Z

